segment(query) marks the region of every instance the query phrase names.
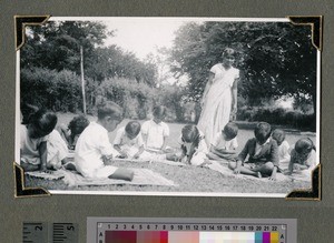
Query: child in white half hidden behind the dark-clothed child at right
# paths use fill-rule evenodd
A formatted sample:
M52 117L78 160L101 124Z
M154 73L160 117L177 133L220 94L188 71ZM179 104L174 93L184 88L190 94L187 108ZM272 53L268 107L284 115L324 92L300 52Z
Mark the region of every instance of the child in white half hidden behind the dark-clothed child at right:
M279 169L287 169L289 162L289 144L285 140L285 132L281 129L275 129L272 138L276 140L278 145Z

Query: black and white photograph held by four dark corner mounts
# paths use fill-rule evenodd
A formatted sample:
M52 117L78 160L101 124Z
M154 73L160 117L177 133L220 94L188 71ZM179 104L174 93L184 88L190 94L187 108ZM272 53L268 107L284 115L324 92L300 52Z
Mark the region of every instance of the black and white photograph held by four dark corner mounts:
M320 163L320 60L287 18L51 17L17 51L16 162L53 194L285 198Z

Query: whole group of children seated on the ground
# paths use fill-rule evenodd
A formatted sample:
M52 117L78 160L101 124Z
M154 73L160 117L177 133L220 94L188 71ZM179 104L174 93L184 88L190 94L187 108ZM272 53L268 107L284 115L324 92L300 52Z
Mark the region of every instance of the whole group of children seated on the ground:
M57 124L57 115L43 109L30 107L33 112L23 114L21 125L20 164L24 171L72 169L68 150L75 151L75 169L86 178L132 180L134 172L116 168L115 158L150 161L170 160L204 166L210 161L225 162L235 174L276 180L276 173L285 166L286 173L302 173L315 166L315 146L310 138L299 139L289 152L283 130L274 130L266 122L258 122L254 138L236 154L238 126L225 125L207 146L204 134L196 125L187 124L178 139L180 152L166 146L169 128L164 122L166 108L153 110L154 118L140 125L130 121L117 130L114 143L108 133L122 121L122 109L114 102L98 107L96 122L76 117L69 125Z

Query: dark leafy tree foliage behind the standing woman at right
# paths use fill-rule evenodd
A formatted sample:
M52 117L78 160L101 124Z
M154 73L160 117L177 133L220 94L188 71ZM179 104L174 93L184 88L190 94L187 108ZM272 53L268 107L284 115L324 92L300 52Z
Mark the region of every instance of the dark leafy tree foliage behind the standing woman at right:
M193 22L181 27L170 62L176 75L189 75L190 99L200 99L210 67L220 62L227 47L238 53L239 95L249 104L283 95L315 99L316 49L311 28L288 22Z

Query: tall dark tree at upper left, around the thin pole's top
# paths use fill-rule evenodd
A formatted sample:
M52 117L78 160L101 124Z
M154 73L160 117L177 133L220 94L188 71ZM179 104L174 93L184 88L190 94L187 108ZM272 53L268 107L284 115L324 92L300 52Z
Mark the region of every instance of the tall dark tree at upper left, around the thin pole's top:
M21 68L43 67L51 70L80 72L80 47L85 63L90 64L94 49L101 45L107 27L91 21L48 21L45 26L30 27L21 51Z

